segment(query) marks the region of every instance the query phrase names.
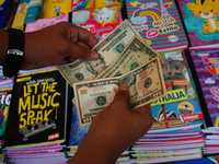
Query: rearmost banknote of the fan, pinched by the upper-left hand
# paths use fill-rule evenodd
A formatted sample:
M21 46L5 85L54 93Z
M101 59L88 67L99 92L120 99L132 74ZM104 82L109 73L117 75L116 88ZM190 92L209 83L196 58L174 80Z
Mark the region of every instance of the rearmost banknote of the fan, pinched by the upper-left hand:
M58 66L57 69L71 86L76 82L93 80L117 58L135 35L141 37L128 20L125 20L93 47L100 55L97 60L79 59Z

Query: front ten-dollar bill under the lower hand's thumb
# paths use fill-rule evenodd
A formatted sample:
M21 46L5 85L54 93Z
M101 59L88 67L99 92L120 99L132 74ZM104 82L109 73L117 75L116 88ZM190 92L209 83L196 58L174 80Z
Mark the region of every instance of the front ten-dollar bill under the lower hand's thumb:
M122 83L129 86L130 109L166 94L159 57L122 77L73 83L80 126L90 125L93 118L108 106Z

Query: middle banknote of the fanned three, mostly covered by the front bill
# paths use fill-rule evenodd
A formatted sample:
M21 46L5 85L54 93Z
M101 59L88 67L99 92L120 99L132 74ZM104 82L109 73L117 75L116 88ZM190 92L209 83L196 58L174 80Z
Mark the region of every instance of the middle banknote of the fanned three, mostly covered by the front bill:
M119 77L142 66L155 57L159 57L160 59L162 58L160 54L136 35L120 55L95 79Z

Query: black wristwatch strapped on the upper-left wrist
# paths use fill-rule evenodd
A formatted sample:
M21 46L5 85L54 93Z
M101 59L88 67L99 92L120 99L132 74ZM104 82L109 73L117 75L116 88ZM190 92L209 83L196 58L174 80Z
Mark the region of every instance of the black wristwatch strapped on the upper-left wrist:
M3 63L3 75L12 78L21 69L24 51L24 33L21 30L7 28L9 32L8 55Z

